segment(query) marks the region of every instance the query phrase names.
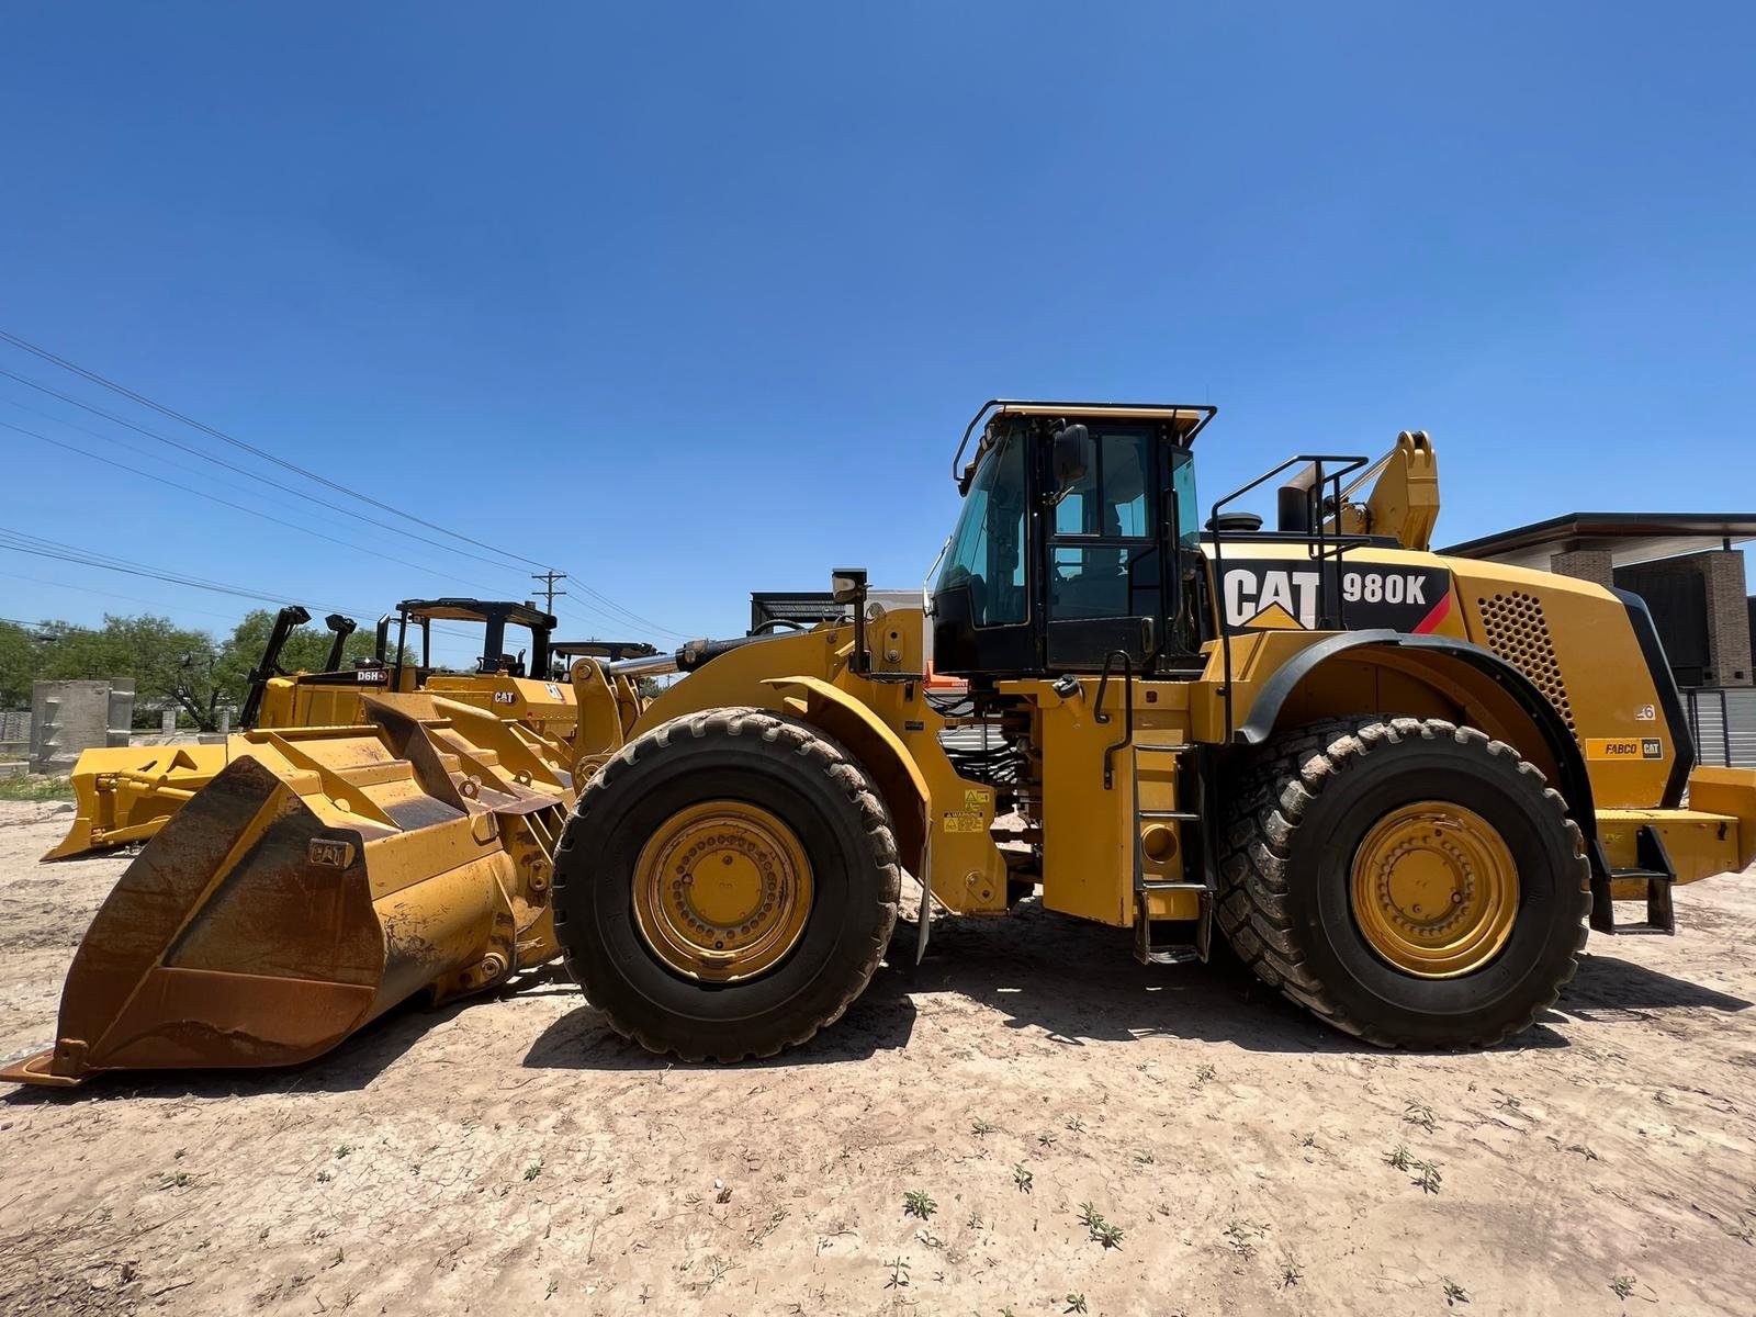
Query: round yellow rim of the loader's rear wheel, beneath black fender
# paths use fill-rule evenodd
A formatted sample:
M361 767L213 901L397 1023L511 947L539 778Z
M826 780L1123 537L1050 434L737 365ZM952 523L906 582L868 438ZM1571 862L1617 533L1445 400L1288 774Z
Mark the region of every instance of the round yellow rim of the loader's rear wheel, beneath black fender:
M1447 801L1384 815L1354 852L1354 920L1393 968L1457 978L1512 936L1519 869L1493 824Z

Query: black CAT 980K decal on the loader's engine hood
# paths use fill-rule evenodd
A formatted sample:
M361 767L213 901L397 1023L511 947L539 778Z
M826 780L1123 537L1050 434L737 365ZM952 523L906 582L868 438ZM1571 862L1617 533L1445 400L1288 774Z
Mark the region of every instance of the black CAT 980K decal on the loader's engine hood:
M1220 569L1227 630L1403 630L1424 634L1450 613L1443 567L1241 562Z

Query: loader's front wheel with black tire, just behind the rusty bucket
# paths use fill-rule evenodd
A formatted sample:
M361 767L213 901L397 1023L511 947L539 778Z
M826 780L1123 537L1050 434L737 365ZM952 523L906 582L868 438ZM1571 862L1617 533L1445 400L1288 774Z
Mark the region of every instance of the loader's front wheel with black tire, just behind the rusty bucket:
M760 945L748 962L692 971L695 915L678 904L667 938L650 892L690 855L739 859L725 846L739 825L716 818L746 820L755 873L780 873L790 887L781 903L799 908L788 922L759 906L750 922L774 927L767 941L752 934ZM664 850L667 838L680 838L674 850ZM658 873L655 846L666 857ZM630 741L579 794L555 862L555 934L618 1034L683 1061L732 1062L797 1047L841 1017L883 959L899 885L890 815L846 750L766 709L709 709ZM711 961L706 938L694 954Z

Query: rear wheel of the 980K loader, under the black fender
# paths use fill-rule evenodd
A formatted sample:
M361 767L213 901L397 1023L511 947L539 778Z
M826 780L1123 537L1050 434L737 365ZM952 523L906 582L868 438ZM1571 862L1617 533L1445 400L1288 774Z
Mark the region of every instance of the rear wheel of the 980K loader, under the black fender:
M1236 785L1219 867L1220 927L1256 975L1380 1047L1529 1027L1591 913L1561 795L1512 746L1440 720L1278 738Z

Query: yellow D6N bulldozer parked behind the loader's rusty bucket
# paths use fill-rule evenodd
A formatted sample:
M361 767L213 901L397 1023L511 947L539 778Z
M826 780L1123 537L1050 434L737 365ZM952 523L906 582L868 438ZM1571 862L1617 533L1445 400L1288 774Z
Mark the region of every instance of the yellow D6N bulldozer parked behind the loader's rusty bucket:
M239 711L241 732L355 727L367 722L362 695L425 690L523 723L544 743L550 759L571 769L567 746L576 727L574 694L560 662L576 653L657 653L653 646L634 641L557 641L555 618L529 602L404 599L393 613L378 620L371 657L342 664L348 637L358 623L332 613L323 620L332 637L328 658L313 673L290 671L283 667L283 653L293 632L307 622L311 613L297 604L276 615L262 658L249 674L249 692ZM479 627L479 655L472 671L434 667L435 622ZM506 651L509 627L529 634L529 644L518 653ZM397 632L393 643L392 629ZM620 695L623 716L632 722L637 715L636 692L629 687ZM44 859L72 859L151 839L235 755L249 753L251 745L249 738L228 736L200 745L86 750L72 771L74 822Z

